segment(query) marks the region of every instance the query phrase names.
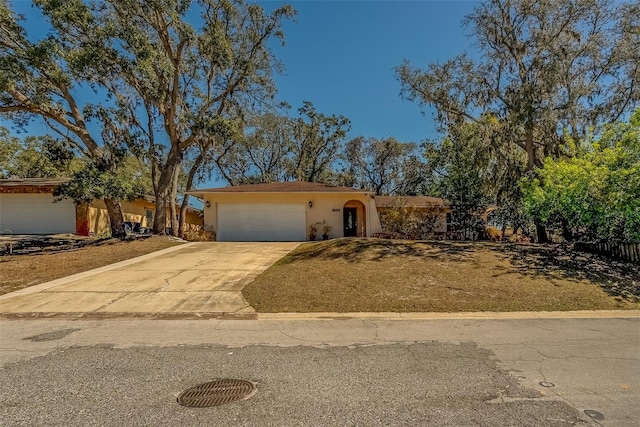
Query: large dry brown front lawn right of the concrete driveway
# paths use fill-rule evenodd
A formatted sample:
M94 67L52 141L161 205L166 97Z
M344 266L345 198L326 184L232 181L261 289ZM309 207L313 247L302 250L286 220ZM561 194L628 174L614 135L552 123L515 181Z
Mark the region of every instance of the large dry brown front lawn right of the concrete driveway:
M640 268L559 246L335 239L245 287L258 312L640 309Z

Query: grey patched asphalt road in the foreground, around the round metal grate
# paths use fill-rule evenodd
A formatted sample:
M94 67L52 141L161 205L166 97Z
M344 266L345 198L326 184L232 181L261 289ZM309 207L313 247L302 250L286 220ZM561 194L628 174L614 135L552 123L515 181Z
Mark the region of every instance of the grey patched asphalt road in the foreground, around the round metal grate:
M0 320L0 337L0 424L9 426L640 419L637 318L29 319ZM215 408L176 403L215 378L250 380L257 392Z

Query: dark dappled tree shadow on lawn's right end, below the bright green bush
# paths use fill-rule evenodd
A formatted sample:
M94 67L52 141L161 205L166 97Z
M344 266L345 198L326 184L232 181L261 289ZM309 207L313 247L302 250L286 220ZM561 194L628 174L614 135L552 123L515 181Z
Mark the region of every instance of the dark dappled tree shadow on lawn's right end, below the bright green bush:
M519 273L551 282L554 279L588 280L610 296L640 302L640 265L632 262L578 252L565 245L498 243L486 248L512 266L511 269L497 267L503 270L497 275Z

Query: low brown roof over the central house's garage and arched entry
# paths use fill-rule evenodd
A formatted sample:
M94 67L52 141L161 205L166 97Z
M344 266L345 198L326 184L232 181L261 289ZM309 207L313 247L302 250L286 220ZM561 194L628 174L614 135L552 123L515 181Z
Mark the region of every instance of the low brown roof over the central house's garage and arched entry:
M357 190L351 187L338 187L317 182L291 181L270 182L266 184L235 185L222 188L202 188L188 191L188 194L201 195L203 193L366 193L367 190Z

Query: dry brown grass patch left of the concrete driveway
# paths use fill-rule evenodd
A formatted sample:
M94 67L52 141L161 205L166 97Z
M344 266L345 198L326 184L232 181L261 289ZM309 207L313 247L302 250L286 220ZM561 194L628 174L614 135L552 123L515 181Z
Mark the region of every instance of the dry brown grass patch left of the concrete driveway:
M97 243L62 252L1 256L0 295L180 244L160 236Z

